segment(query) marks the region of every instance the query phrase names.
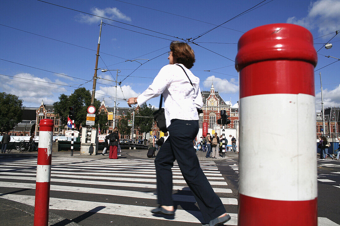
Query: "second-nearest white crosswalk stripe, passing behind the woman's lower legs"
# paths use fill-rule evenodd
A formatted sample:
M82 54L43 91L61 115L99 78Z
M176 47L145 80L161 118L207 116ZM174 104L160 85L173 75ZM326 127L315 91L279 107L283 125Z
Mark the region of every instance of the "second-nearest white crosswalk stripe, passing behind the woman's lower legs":
M1 182L0 187L35 189L35 184L17 183L17 182ZM153 200L157 199L157 194L155 192L126 191L126 190L103 189L103 188L63 186L63 185L51 185L50 190L51 191L80 192L80 193L88 193L88 194L105 194L105 195L132 197L132 198L139 198L139 199L153 199ZM196 203L196 200L193 196L173 194L172 199L174 201ZM237 199L233 199L233 198L220 198L220 199L224 205L237 205Z

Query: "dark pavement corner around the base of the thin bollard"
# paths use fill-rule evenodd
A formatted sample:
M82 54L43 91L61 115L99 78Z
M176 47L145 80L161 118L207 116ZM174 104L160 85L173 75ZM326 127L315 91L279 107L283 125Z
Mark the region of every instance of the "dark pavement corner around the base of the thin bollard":
M20 203L20 202L16 202L16 201L12 201L12 200L8 200L8 199L4 199L0 197L0 205L5 205L7 207L11 207L13 208L11 211L13 213L13 211L15 211L16 213L20 213L20 212L25 212L27 214L29 214L28 216L26 216L25 218L22 219L22 224L21 225L29 225L29 222L32 221L32 225L33 225L33 219L34 219L34 206L30 206L24 203ZM4 210L2 210L4 211ZM1 212L2 212L1 211ZM1 215L3 215L0 212ZM27 218L29 217L29 219ZM12 219L7 219L2 221L2 225L13 225ZM69 223L67 223L69 222ZM17 225L18 222L16 222ZM61 226L61 225L65 225L65 226L81 226L80 224L77 224L75 222L72 222L72 220L66 219L64 217L61 217L55 213L49 212L49 218L48 218L48 225L49 226Z

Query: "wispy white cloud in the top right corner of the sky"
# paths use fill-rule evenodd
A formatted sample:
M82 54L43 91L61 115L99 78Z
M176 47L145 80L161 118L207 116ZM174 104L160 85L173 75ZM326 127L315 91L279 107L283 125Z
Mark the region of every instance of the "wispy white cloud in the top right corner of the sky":
M316 27L321 35L335 32L340 24L340 0L311 2L306 17L289 17L287 23L301 25L307 29Z

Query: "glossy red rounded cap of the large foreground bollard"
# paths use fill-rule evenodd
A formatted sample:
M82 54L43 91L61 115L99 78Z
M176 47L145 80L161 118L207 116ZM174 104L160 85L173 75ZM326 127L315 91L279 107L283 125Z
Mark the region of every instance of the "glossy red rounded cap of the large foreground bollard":
M237 71L268 60L300 60L317 64L313 37L304 27L288 23L267 24L249 30L238 41Z

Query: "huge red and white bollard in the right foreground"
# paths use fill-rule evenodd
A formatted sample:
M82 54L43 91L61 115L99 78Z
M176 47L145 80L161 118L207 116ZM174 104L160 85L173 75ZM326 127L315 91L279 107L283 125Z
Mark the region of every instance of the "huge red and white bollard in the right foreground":
M238 42L239 226L317 226L316 63L301 26L256 27Z

